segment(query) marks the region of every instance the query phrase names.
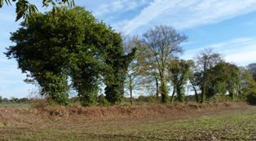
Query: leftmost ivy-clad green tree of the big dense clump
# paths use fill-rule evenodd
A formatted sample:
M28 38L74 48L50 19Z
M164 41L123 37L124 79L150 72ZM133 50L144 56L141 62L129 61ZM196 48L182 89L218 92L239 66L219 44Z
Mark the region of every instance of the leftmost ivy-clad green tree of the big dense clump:
M42 95L56 104L68 104L68 72L73 67L73 51L82 45L86 20L82 8L70 11L52 11L33 14L28 24L11 33L15 46L7 50L9 58L15 58L23 73L28 73L27 82L38 82Z

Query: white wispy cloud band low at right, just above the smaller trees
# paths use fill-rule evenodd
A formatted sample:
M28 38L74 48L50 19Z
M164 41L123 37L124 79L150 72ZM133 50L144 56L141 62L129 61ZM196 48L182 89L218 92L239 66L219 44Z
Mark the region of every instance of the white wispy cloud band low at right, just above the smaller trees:
M240 37L205 47L211 47L214 51L221 53L228 62L239 65L256 62L256 37ZM204 47L185 51L183 58L192 59L203 49Z

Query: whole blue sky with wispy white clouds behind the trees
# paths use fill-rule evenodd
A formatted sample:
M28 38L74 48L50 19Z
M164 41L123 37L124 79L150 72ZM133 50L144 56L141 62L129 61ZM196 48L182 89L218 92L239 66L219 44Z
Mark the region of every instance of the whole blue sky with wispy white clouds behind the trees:
M40 0L41 1L41 0ZM30 1L39 11L40 1ZM142 34L155 25L169 25L188 35L184 59L192 59L204 47L224 55L228 62L256 62L256 0L77 0L113 29L125 35ZM0 95L26 97L38 89L23 82L25 74L3 52L11 46L10 32L19 28L15 7L0 9Z

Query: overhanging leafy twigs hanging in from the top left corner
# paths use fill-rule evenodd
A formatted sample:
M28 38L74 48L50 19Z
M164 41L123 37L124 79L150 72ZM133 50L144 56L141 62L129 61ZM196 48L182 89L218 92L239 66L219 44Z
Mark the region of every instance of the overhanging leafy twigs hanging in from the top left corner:
M28 21L29 15L38 12L38 8L29 3L28 0L0 0L0 8L5 4L11 5L11 2L15 2L15 12L16 12L16 21L20 18L25 19L25 23ZM75 5L74 0L42 0L42 7L48 7L52 5L53 7L64 6L65 4L68 7L73 7Z

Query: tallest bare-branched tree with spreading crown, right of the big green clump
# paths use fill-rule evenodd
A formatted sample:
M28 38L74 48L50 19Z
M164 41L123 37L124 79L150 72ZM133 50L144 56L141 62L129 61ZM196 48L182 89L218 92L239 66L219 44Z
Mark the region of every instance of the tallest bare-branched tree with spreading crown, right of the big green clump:
M160 80L161 102L167 102L168 90L166 87L166 69L170 59L182 53L180 44L186 41L187 37L168 26L156 26L143 33L142 44L147 47L150 53L152 64L157 68L157 79Z

